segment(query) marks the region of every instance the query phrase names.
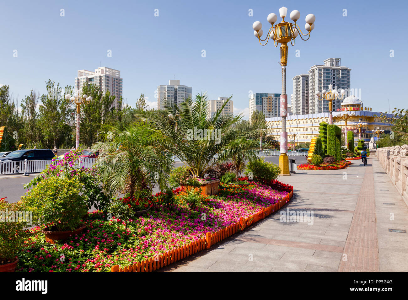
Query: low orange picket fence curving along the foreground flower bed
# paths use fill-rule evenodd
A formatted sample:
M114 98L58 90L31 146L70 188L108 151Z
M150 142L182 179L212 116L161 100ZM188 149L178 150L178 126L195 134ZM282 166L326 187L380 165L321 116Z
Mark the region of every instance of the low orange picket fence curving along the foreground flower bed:
M182 247L178 247L177 249L166 251L165 253L154 256L152 258L146 258L146 260L131 264L128 267L120 267L118 264L116 264L115 266L111 267L111 272L153 272L204 249L210 249L212 245L221 242L222 240L228 238L229 236L232 236L238 231L244 230L246 227L251 226L255 222L258 222L259 220L264 219L266 216L269 216L271 213L274 213L275 211L281 209L286 203L290 201L290 198L292 198L292 196L293 191L288 193L288 195L286 195L282 200L279 200L279 202L269 207L263 208L262 211L259 211L245 219L240 218L240 220L235 224L232 224L223 229L219 229L214 233L207 232L204 238L200 238L195 242L185 244Z

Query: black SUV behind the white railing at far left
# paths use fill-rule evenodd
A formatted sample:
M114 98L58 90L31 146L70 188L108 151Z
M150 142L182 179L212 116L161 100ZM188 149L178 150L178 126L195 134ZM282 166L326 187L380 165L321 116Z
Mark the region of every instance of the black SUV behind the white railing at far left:
M8 171L9 168L20 169L20 161L22 160L51 160L54 158L54 153L50 149L24 149L12 151L7 156L0 157L0 171ZM7 164L10 161L17 161L16 164Z

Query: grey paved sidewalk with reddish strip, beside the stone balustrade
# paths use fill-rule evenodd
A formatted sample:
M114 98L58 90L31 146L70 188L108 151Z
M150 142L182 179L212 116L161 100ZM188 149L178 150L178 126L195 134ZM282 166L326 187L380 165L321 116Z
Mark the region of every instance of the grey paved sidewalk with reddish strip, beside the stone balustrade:
M408 208L376 158L279 180L295 193L281 211L313 212L313 224L279 211L160 271L408 271L408 234L389 231L408 231Z

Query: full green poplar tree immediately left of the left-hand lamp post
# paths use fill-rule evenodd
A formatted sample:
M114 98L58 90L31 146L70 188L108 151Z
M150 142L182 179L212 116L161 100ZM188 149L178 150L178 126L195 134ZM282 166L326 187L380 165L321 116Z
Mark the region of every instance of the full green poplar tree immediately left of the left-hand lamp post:
M47 95L41 95L42 104L39 107L39 127L42 132L44 144L47 147L59 147L62 143L71 140L72 123L75 108L70 100L65 100L62 88L58 82L48 80L45 82ZM71 90L71 86L65 90Z

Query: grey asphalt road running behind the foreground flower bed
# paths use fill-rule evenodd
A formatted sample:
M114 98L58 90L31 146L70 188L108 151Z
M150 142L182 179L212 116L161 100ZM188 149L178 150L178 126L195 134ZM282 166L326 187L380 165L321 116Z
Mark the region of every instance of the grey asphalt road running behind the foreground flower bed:
M289 156L289 158L295 159L297 164L302 164L306 162L306 156ZM279 163L279 156L266 156L265 161L273 162L275 164ZM175 162L174 166L182 166L182 162ZM21 196L27 191L23 188L24 184L28 183L38 174L31 174L30 176L13 176L13 175L3 175L0 176L0 198L7 197L8 202L16 202L20 200ZM12 177L13 176L13 177ZM157 188L154 192L159 191Z

